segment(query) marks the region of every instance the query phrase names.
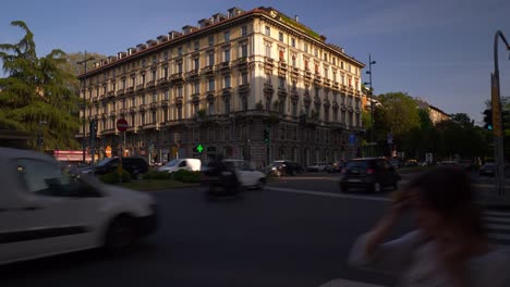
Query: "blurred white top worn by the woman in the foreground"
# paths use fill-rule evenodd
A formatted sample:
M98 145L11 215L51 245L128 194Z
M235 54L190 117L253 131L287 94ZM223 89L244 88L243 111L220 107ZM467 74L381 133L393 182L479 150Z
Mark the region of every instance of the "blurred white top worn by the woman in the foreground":
M349 263L400 277L402 287L452 286L445 271L437 264L436 246L425 240L421 232L381 244L372 257L365 253L367 234L354 244ZM503 249L493 251L469 262L470 287L510 286L510 252Z

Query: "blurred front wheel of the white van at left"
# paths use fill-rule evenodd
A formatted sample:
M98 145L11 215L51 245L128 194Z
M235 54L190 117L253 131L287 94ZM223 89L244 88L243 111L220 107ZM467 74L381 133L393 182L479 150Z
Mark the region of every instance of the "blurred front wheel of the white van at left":
M114 219L105 236L105 248L112 253L119 253L132 247L138 240L138 232L134 220L123 215Z

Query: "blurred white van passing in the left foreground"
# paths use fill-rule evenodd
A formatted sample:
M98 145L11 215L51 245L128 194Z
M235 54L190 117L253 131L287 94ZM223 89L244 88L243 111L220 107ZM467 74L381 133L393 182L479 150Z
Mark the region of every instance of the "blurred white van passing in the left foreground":
M156 230L147 194L71 177L42 153L0 148L0 264L107 247L123 250Z

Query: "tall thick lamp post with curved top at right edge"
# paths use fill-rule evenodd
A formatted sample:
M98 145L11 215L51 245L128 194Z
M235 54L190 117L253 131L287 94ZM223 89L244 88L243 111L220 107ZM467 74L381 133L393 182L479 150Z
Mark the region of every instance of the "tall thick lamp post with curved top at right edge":
M499 67L498 67L498 39L501 39L510 50L505 35L497 30L494 37L494 73L491 74L491 105L493 105L493 126L494 126L494 157L496 159L496 189L499 196L505 196L505 154L501 127L501 98L499 87Z

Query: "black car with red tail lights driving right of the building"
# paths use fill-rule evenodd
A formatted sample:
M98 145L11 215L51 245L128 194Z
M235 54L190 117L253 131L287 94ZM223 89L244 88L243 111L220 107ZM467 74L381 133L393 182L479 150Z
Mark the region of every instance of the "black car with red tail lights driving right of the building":
M340 177L341 191L363 188L379 192L385 187L398 188L400 175L385 159L361 158L349 161Z

